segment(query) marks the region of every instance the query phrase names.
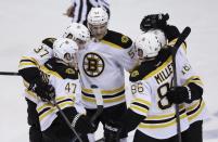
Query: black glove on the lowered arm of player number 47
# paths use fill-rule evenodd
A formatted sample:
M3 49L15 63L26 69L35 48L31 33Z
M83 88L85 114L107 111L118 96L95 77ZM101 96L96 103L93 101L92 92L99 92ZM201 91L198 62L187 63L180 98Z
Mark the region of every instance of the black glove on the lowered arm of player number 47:
M95 130L94 126L91 125L90 119L82 114L77 114L74 117L72 126L80 133L92 133Z

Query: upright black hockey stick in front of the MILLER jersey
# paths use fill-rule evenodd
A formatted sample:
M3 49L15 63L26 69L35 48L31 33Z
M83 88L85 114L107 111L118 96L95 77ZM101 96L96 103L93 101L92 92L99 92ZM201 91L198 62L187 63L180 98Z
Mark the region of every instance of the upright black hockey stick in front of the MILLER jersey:
M177 39L177 42L175 46L171 48L171 54L172 54L172 69L174 69L174 87L177 87L177 67L176 67L176 54L179 49L179 47L182 44L182 42L187 39L189 34L191 33L190 27L185 27L179 38ZM181 125L180 125L180 115L179 115L179 104L175 105L176 107L176 120L177 120L177 133L178 133L178 139L179 142L182 142L181 140Z

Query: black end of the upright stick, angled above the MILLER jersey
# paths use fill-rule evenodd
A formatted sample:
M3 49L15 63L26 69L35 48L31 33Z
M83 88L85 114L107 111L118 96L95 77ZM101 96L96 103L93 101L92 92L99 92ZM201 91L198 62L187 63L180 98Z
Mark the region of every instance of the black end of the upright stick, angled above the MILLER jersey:
M187 39L190 33L191 33L191 28L189 26L183 29L183 31L180 34L179 38L177 39L177 42L175 43L172 48L172 55L176 55L177 50L182 44L182 42Z

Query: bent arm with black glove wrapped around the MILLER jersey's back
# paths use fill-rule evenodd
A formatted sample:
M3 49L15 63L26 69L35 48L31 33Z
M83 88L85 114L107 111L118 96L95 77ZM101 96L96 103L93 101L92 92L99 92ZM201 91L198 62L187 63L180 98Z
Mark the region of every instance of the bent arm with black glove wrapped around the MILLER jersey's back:
M185 51L180 48L177 53L179 87L172 88L166 96L171 103L191 103L203 95L203 82L191 67Z

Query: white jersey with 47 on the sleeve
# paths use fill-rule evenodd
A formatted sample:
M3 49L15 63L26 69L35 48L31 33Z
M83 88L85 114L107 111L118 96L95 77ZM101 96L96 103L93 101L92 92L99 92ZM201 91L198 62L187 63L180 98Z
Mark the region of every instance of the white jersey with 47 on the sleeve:
M40 69L44 73L49 80L49 85L52 85L55 89L55 101L64 109L66 107L75 107L78 113L86 113L84 106L79 101L81 88L78 79L78 73L75 69L68 68L66 66L59 66L54 68L52 64L41 66ZM75 106L76 104L76 106ZM41 130L46 130L52 124L52 121L57 117L56 112L59 109L54 104L50 102L43 102L40 99L37 101L37 112L39 114L39 122Z

